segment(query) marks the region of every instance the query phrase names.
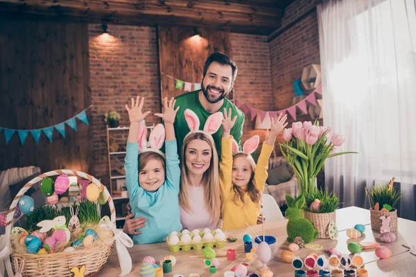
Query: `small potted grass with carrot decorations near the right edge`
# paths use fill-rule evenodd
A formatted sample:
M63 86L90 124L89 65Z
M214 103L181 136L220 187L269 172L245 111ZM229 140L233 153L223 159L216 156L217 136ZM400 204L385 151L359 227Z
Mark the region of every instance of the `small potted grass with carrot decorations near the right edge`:
M401 199L400 191L393 188L395 178L390 181L390 184L383 186L373 186L368 193L367 188L366 194L370 200L370 217L371 217L371 228L375 231L380 231L382 225L381 216L390 216L390 231L397 231L397 204Z

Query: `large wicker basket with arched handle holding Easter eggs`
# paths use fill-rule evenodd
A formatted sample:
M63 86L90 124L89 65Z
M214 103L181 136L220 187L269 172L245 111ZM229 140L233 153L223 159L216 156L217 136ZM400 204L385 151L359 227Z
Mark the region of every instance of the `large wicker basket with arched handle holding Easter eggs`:
M88 179L92 181L93 184L98 186L101 190L104 191L107 196L107 202L110 206L111 211L111 222L116 222L116 213L114 208L114 203L110 193L108 193L107 188L98 181L95 177L87 175L84 172L75 171L75 170L53 170L46 172L38 177L35 177L29 181L23 188L17 193L15 199L13 199L12 204L10 205L8 215L6 217L6 233L10 234L12 231L12 219L15 213L15 209L19 199L26 193L26 191L31 188L38 181L46 177L56 176L56 175L75 175L77 177ZM107 262L107 258L110 255L110 250L112 247L111 244L105 244L104 247L90 247L88 249L82 249L73 252L60 252L60 253L49 253L46 255L36 255L29 253L12 253L12 258L16 258L19 261L19 264L24 260L25 266L22 271L22 276L51 276L51 277L71 277L71 269L73 267L80 267L85 265L86 271L85 276L95 276L98 271L101 271ZM13 267L15 267L13 263ZM15 269L15 268L14 268ZM16 270L16 269L15 269Z

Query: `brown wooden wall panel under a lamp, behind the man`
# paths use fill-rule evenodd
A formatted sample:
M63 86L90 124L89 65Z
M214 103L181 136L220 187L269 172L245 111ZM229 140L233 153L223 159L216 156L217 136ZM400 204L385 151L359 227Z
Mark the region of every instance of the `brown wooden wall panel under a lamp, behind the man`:
M195 36L200 33L200 36ZM231 56L229 32L184 26L158 26L159 69L162 99L175 97L184 90L175 89L175 80L201 82L205 60L220 51ZM192 87L193 89L193 87ZM232 93L228 96L232 99Z

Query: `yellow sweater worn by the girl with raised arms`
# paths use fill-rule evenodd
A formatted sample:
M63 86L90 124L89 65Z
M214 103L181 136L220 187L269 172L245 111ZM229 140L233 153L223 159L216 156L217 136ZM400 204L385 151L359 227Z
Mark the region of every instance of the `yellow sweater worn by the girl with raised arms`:
M263 143L259 161L254 170L254 180L256 187L263 193L264 184L268 177L268 159L272 154L273 145ZM260 203L252 202L250 195L245 193L244 202L234 198L232 189L232 136L229 139L222 139L221 161L220 161L220 193L222 200L221 212L223 215L223 230L238 229L246 227L245 222L252 225L257 224L257 217L260 215Z

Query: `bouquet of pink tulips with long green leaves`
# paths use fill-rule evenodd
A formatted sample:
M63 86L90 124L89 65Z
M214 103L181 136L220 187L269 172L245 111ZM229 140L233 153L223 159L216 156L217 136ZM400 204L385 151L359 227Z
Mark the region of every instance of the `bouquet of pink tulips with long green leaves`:
M295 122L291 128L283 130L286 143L279 143L281 153L292 166L297 177L297 186L301 194L315 190L315 178L327 158L348 153L336 149L345 139L341 134L333 134L331 127L313 125L311 121Z

